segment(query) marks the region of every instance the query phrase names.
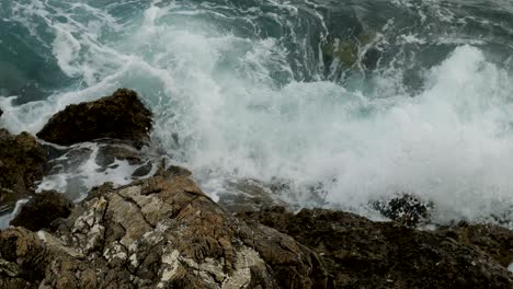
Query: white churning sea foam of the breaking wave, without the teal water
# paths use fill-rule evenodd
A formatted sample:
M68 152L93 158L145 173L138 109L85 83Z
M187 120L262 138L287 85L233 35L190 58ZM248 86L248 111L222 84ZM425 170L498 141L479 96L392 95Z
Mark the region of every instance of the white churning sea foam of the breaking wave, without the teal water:
M209 194L223 194L226 180L278 177L301 205L321 183L329 206L361 212L373 199L409 192L432 200L440 222L511 213L513 81L481 49L457 47L428 70L414 95L394 73L365 80L372 88L358 91L293 81L290 51L280 39L241 37L195 13L208 11L151 5L114 41L98 28L118 31L124 23L112 18L50 25L60 68L87 88L21 106L2 100L2 125L35 132L69 103L129 86L155 112L156 142ZM109 178L124 183L130 169L118 167ZM42 186L62 188L65 181L52 176Z

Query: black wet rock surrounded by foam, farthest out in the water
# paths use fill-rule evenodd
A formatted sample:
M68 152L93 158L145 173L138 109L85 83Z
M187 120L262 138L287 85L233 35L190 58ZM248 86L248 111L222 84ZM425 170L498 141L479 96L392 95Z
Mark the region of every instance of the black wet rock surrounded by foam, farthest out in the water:
M140 148L150 129L151 112L135 91L122 89L94 102L68 105L48 120L37 137L61 146L113 138Z

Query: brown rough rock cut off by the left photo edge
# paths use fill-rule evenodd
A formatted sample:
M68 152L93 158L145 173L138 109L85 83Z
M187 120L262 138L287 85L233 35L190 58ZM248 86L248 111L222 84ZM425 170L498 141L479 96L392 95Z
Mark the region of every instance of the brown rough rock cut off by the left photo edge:
M47 151L33 136L0 129L0 212L12 210L16 200L34 193L46 161Z

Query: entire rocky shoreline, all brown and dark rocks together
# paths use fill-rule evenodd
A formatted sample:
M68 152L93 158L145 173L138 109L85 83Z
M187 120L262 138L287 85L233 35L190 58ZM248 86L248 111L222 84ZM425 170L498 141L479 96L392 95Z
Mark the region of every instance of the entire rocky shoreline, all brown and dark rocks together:
M0 130L0 209L32 198L0 231L0 288L513 288L511 230L422 231L413 227L425 208L401 200L385 210L388 222L293 213L258 186L216 204L186 169L140 157L150 129L137 93L118 90L66 107L36 134L61 146L103 143L102 167L138 165L132 183L105 183L78 203L36 194L34 183L65 165L58 157L83 151ZM399 210L407 213L395 218Z

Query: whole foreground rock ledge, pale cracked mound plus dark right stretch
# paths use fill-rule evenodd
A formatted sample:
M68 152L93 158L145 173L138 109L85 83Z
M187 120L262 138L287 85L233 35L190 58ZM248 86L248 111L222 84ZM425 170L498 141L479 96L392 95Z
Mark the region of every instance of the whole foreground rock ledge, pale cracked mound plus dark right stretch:
M233 217L187 170L96 187L55 231L0 232L0 288L513 288L513 233L283 207Z

